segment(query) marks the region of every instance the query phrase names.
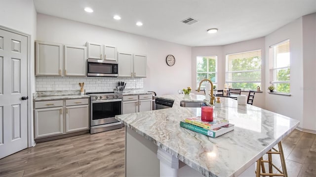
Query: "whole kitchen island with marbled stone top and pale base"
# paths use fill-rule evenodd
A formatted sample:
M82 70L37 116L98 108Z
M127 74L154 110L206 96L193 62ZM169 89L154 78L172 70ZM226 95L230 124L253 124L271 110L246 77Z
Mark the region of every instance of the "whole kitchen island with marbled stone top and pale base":
M116 116L126 128L128 177L192 176L196 172L206 177L236 177L299 124L298 120L221 98L223 107L214 108L214 116L228 119L235 129L210 138L180 127L181 120L201 114L200 108L180 107L180 101L203 100L203 95L161 98L173 99L172 108Z

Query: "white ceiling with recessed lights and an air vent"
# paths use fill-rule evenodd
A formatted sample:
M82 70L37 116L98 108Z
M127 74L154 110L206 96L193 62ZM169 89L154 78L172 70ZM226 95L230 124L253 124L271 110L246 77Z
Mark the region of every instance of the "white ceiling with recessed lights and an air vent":
M225 45L265 36L316 12L316 0L34 0L38 13L188 46ZM87 13L84 7L94 12ZM113 19L119 15L121 20ZM198 22L181 21L193 17ZM144 25L136 26L141 21ZM217 28L209 34L207 29Z

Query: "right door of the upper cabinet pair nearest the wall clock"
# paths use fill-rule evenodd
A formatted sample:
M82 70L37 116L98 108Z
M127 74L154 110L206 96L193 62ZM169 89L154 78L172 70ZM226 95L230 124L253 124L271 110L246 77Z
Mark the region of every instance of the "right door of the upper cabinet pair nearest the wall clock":
M134 77L146 77L146 55L134 54Z

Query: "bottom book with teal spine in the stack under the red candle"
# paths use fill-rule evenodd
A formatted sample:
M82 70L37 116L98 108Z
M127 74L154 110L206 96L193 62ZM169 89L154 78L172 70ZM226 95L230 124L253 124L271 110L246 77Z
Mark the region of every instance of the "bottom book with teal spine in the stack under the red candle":
M234 124L232 124L232 123L229 123L228 126L217 127L215 129L212 129L212 130L205 129L205 128L199 127L197 125L187 123L185 121L180 121L180 126L183 128L187 128L189 130L193 130L197 133L207 135L207 136L212 137L212 138L216 138L218 136L221 136L227 132L234 130Z

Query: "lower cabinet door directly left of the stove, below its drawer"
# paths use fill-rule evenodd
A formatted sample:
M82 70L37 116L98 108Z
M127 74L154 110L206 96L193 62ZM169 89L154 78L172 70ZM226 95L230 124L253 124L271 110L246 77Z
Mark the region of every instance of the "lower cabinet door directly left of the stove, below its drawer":
M89 129L89 105L66 107L66 132Z

